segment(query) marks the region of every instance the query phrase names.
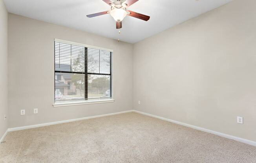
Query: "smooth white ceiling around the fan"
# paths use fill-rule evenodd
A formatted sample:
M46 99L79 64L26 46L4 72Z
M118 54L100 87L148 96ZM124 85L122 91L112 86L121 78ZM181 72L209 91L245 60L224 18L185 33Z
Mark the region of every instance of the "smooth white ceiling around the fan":
M231 1L139 0L128 9L146 14L150 16L150 20L145 22L126 16L119 34L119 30L115 28L115 20L110 14L94 18L86 17L87 14L110 9L110 6L102 0L4 0L10 13L129 43L139 42Z

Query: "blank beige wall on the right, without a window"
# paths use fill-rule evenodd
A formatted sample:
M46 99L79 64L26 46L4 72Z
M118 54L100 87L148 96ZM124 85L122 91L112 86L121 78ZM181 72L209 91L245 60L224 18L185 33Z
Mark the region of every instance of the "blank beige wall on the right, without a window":
M133 108L256 141L255 7L234 0L136 43Z

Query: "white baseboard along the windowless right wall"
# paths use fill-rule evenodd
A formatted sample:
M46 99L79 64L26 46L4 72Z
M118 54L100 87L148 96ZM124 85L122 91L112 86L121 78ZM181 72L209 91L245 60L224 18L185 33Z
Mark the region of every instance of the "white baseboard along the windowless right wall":
M155 115L148 114L148 113L141 112L141 111L137 111L137 110L133 110L133 111L137 112L139 114L144 114L146 116L151 116L151 117L158 118L158 119L161 119L161 120L165 120L165 121L169 121L169 122L172 122L172 123L176 123L178 125L183 125L183 126L186 126L186 127L190 127L192 129L208 132L208 133L211 133L211 134L222 136L224 138L228 138L228 139L232 139L232 140L240 141L242 143L246 143L246 144L249 144L249 145L256 146L256 142L255 141L251 141L251 140L248 140L248 139L238 138L236 136L232 136L232 135L228 135L228 134L223 134L221 132L216 132L216 131L213 131L213 130L204 129L204 128L197 127L197 126L194 126L194 125L190 125L190 124L187 124L187 123L183 123L183 122L179 122L179 121L175 121L175 120L170 120L168 118L163 118L163 117L160 117L160 116L155 116Z

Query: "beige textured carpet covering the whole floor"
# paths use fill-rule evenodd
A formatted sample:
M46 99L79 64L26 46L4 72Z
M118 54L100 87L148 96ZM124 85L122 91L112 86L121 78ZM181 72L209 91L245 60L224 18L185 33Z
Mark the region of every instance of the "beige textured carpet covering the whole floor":
M9 132L0 163L256 163L256 147L134 112Z

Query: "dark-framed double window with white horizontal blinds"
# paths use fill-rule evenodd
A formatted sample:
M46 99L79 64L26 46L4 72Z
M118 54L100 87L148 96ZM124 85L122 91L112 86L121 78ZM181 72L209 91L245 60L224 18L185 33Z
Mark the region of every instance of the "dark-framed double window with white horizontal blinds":
M55 103L112 98L110 49L55 39Z

